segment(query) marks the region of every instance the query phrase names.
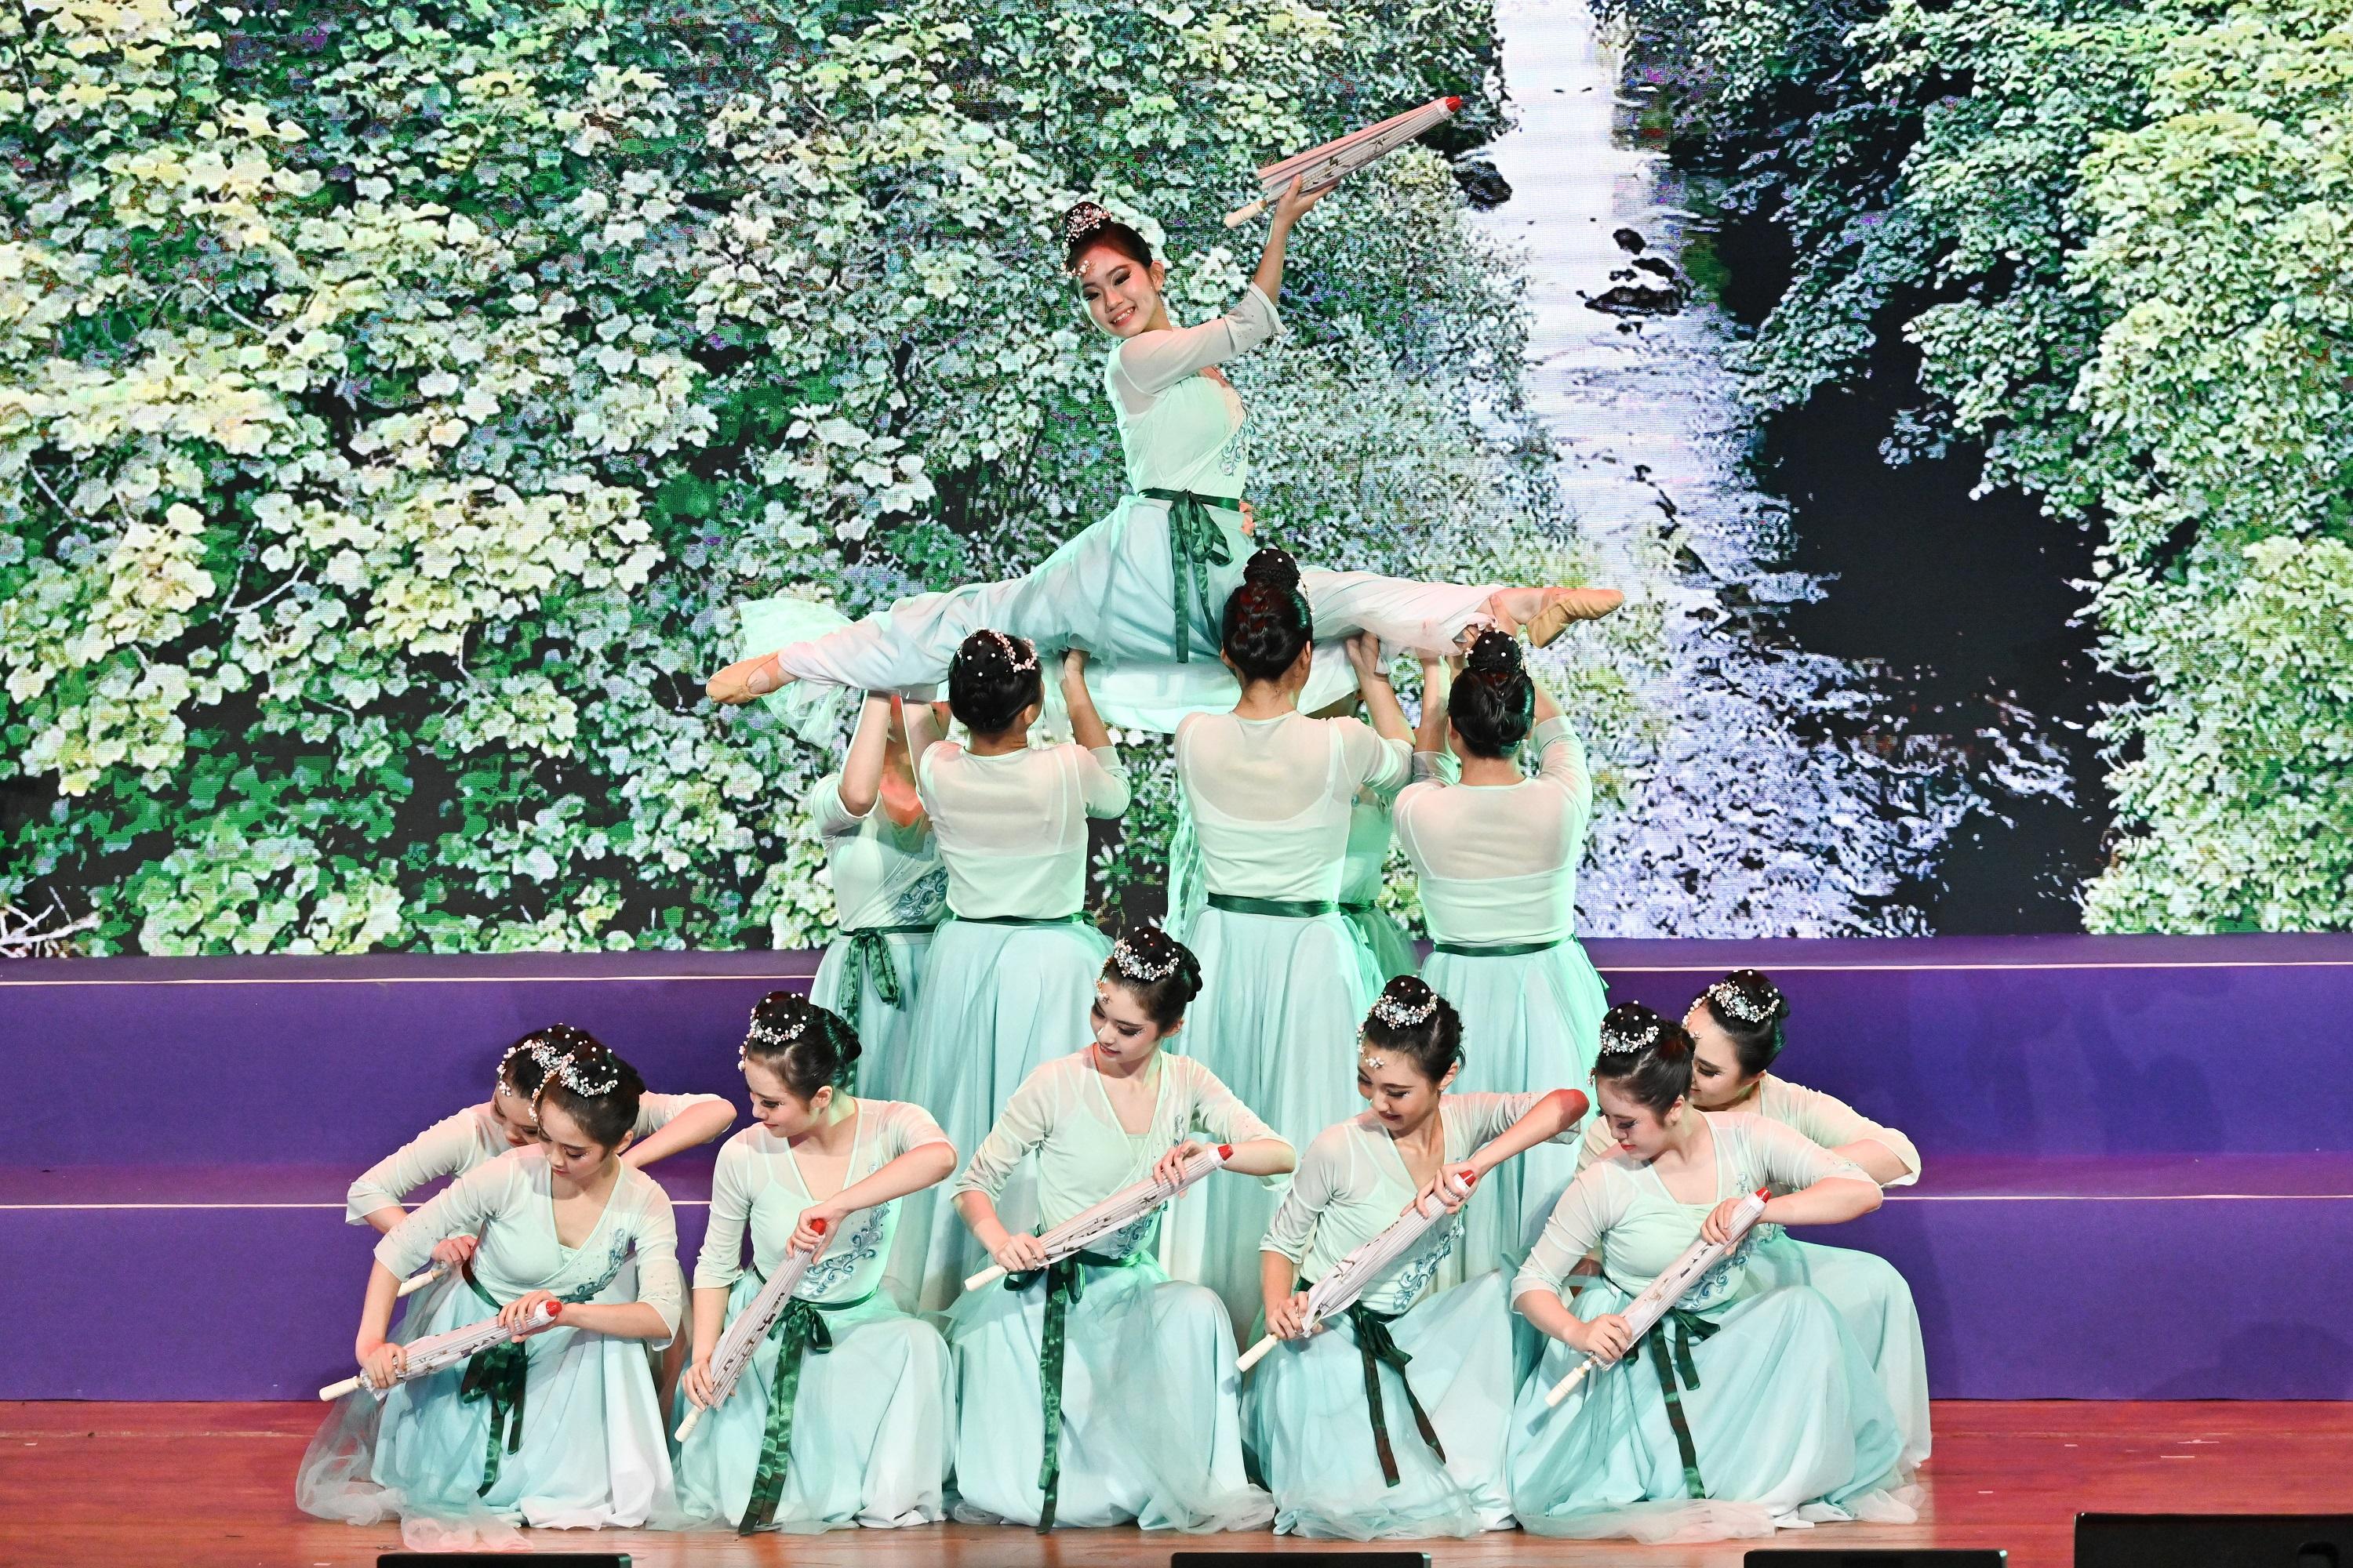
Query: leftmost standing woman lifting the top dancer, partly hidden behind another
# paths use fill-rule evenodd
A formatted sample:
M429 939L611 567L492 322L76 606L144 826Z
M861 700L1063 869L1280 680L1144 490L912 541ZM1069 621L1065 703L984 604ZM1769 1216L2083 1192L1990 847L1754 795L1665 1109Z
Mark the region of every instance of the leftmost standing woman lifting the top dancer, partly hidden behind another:
M826 844L840 936L826 945L809 1001L840 1013L866 1044L878 1095L906 1084L906 1041L946 917L948 872L922 811L899 698L868 691L849 755L809 790ZM845 1084L856 1088L856 1084Z

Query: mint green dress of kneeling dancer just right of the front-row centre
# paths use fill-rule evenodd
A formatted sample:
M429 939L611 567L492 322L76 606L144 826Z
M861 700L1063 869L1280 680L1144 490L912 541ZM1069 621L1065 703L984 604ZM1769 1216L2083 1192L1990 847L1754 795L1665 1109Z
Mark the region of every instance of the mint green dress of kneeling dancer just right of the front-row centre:
M1539 1100L1442 1095L1445 1159L1471 1159ZM1289 1258L1304 1291L1388 1229L1414 1192L1395 1140L1365 1112L1315 1135L1261 1248ZM1440 1220L1358 1298L1351 1316L1306 1340L1285 1340L1252 1373L1242 1427L1275 1495L1278 1533L1381 1540L1473 1535L1511 1523L1504 1486L1511 1302L1494 1272L1433 1288L1457 1227L1459 1218ZM1374 1441L1367 1378L1381 1389L1379 1432L1395 1481ZM1424 1420L1438 1448L1424 1439Z

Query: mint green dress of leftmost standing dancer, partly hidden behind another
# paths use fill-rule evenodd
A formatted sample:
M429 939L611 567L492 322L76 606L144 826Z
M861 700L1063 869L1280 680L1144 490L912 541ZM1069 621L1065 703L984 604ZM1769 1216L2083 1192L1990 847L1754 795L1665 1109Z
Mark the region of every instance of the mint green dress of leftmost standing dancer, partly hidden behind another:
M809 790L807 816L826 846L826 877L840 936L816 961L809 1001L840 1013L859 1032L856 1079L878 1098L908 1088L908 1037L932 931L948 914L948 867L939 860L932 818L901 827L878 799L866 816L842 806L842 776Z

